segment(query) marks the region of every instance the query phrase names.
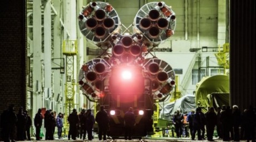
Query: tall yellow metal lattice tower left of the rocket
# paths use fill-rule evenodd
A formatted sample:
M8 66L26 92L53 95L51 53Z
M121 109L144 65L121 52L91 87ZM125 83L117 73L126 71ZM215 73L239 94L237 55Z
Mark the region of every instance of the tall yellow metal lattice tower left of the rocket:
M63 41L62 44L63 55L66 55L66 82L65 82L65 117L64 117L64 134L68 134L69 124L68 115L74 109L74 96L75 96L75 66L74 57L77 54L77 43L76 41Z

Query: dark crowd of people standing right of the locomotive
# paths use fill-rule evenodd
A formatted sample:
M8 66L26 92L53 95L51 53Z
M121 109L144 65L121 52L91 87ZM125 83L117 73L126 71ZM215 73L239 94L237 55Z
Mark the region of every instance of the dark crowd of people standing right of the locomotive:
M255 109L250 107L244 109L242 113L237 105L232 108L223 105L216 110L213 107L207 109L206 113L203 113L201 108L196 108L196 110L192 109L191 112L184 112L184 114L180 113L180 109L177 109L172 120L177 138L189 137L190 133L192 140L196 139L197 134L197 140L207 138L208 141L214 141L213 134L216 130L218 137L223 141L245 139L255 142Z

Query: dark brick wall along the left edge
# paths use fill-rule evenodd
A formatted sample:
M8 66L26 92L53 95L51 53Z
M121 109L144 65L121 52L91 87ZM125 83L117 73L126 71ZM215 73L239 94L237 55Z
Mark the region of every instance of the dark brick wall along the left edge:
M25 1L0 1L0 113L26 106Z

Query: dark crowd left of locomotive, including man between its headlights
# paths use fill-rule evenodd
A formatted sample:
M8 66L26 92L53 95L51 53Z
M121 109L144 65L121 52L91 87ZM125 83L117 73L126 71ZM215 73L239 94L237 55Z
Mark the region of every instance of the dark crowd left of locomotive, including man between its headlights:
M43 121L44 119L44 121ZM44 115L42 115L41 108L38 109L35 119L35 136L36 140L41 140L41 127L44 122L45 128L45 140L53 140L55 127L58 129L58 138L62 139L62 128L63 128L63 115L59 113L55 118L54 112L49 109L46 110ZM76 109L72 110L72 113L68 115L69 131L68 131L68 140L77 138L85 139L86 134L88 140L93 139L92 130L95 122L98 123L98 134L99 140L107 140L107 131L109 126L109 116L104 106L100 106L100 111L97 112L95 118L92 114L92 110L82 109L82 111L77 114ZM132 137L132 128L135 125L135 115L133 109L130 108L129 111L125 113L124 116L124 131L125 139L131 139ZM7 110L1 114L1 138L4 142L15 142L14 132L15 126L17 128L17 137L16 140L24 141L31 140L30 138L30 128L32 126L31 117L28 115L28 111L20 107L19 112L16 114L14 110L14 105L10 105Z

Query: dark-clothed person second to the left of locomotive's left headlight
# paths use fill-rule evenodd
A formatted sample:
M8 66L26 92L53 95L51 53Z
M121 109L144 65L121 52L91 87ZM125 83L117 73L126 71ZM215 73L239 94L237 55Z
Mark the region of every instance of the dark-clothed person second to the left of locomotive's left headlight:
M88 140L92 140L92 128L95 123L95 118L92 114L92 110L88 109L86 112L86 131L88 134Z

